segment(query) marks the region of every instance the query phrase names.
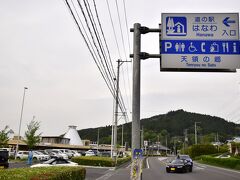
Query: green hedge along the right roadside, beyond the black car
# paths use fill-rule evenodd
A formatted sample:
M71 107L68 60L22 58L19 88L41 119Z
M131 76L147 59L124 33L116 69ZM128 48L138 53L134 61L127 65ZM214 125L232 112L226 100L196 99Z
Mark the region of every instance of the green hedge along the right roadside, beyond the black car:
M206 164L240 170L240 159L234 157L216 158L212 156L200 156L198 159L200 162Z

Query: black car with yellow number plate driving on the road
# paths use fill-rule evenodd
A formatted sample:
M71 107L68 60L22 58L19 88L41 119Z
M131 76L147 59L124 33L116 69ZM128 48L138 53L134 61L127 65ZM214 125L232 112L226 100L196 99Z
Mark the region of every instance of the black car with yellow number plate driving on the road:
M190 167L188 166L187 161L182 159L175 159L166 166L167 173L170 173L170 172L184 173L188 171L190 171Z

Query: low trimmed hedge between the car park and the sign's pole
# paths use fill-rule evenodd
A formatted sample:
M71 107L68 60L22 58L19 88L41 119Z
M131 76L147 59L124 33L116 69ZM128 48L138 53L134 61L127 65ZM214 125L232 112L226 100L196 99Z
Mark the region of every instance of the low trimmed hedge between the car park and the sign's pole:
M80 157L73 157L71 160L73 162L78 163L79 165L114 167L114 166L119 166L129 161L130 159L131 157L118 158L116 164L115 164L115 161L110 157L80 156Z

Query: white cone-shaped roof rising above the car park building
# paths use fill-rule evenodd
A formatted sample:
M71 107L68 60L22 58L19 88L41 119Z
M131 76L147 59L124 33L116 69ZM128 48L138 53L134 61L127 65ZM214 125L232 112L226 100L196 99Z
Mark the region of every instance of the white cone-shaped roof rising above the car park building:
M69 138L70 145L79 145L83 146L82 140L77 132L77 126L68 126L68 132L64 135L64 138Z

